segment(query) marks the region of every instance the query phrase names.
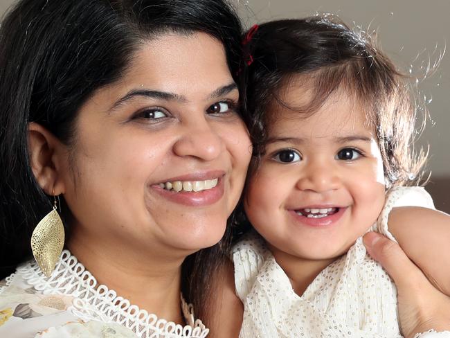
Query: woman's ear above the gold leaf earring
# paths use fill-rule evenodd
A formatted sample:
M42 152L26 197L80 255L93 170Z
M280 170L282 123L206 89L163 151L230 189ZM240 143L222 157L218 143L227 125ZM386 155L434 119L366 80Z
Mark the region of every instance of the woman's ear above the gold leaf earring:
M64 145L39 123L28 125L28 152L30 165L37 184L47 195L64 193L64 181L60 179L60 163L66 152Z

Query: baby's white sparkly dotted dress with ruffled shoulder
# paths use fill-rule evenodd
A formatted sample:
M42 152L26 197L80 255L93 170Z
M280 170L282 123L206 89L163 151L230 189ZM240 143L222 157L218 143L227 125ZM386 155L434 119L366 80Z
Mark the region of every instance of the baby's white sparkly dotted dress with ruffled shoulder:
M433 208L433 201L423 188L395 188L372 230L393 239L388 215L395 206ZM366 254L362 238L323 269L302 296L257 233L237 243L232 255L235 286L244 303L240 338L401 337L395 284Z

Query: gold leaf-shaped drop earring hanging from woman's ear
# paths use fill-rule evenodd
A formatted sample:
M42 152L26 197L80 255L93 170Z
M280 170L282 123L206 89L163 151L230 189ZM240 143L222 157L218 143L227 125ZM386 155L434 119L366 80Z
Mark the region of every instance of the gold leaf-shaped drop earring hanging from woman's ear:
M53 191L53 210L37 224L31 235L31 250L37 265L45 276L49 277L64 247L64 225L56 211L56 196ZM61 205L60 205L61 208Z

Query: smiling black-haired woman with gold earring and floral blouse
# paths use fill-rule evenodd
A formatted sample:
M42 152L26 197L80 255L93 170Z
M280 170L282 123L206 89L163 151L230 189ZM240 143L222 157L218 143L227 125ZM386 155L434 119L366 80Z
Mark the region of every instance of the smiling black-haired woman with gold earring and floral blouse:
M4 19L0 265L26 262L30 239L37 263L6 280L0 337L107 330L91 319L207 334L180 294L203 318L251 155L240 35L222 0L23 0ZM53 203L56 264L31 237Z

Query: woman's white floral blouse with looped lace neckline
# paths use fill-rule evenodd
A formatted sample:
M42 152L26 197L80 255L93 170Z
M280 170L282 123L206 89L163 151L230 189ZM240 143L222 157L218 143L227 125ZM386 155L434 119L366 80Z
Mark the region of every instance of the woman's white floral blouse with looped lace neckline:
M187 326L158 319L98 285L64 250L45 277L30 261L0 282L0 337L8 338L204 338L208 329L181 299Z

